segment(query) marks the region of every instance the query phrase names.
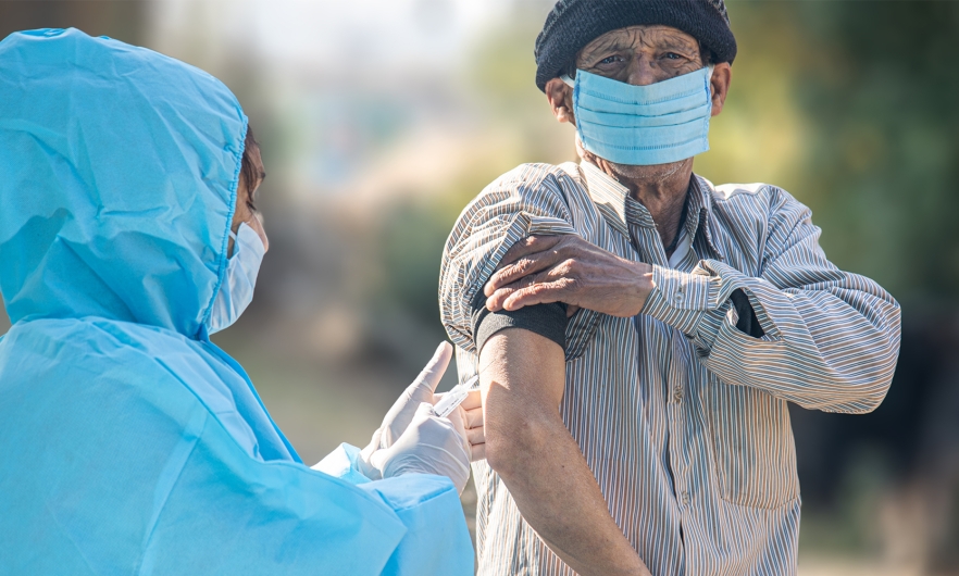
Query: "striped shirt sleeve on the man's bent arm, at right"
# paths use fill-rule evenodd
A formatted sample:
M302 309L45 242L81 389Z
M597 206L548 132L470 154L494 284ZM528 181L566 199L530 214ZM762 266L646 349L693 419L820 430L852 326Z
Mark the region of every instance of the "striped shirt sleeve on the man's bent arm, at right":
M643 313L685 334L727 384L808 409L870 412L896 367L899 304L873 280L825 258L808 208L782 191L777 200L758 277L717 260L692 273L653 266L656 288ZM737 329L736 290L748 297L761 337Z

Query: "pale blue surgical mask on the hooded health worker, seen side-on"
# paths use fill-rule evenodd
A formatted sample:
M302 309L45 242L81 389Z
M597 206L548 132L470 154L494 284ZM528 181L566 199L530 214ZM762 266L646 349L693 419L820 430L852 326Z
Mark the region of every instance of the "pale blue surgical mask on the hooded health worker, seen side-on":
M226 276L216 292L213 310L207 321L207 331L215 334L233 325L253 301L253 288L266 248L257 230L246 222L240 224L233 238L233 255L226 264Z

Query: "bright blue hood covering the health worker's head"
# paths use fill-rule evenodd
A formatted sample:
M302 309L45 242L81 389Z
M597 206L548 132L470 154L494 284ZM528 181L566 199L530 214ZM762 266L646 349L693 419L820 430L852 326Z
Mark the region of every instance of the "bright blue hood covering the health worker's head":
M76 29L0 42L0 291L13 323L195 337L226 267L247 117L216 78Z

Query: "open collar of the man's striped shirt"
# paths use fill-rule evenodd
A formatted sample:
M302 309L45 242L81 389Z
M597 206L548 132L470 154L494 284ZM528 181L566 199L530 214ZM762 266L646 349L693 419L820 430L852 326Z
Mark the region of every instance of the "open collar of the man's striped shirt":
M642 202L630 196L628 188L599 170L591 162L584 160L580 162L580 167L589 197L610 226L627 238L630 237L628 224L642 227L656 227L649 211L646 210ZM710 229L712 226L710 189L708 180L696 174L693 175L687 192L685 230L694 239L701 233L709 248L712 249L720 260L724 260L723 253L713 242L714 235Z

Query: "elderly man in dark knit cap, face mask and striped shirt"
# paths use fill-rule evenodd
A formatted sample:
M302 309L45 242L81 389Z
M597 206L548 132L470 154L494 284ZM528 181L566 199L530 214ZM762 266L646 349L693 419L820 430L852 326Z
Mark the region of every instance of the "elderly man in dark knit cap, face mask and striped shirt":
M736 42L721 0L562 0L536 84L582 162L528 164L450 235L440 308L478 373L479 572L796 573L787 402L862 413L899 308L771 185L693 174Z

